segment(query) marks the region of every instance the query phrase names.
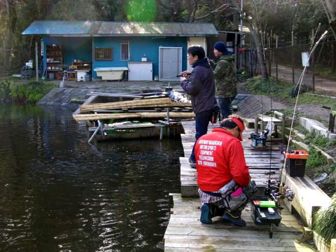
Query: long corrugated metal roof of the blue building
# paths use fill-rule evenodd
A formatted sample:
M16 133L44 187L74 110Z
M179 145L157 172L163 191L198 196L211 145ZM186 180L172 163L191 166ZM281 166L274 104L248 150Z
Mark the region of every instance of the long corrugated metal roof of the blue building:
M34 21L23 35L50 36L205 36L217 35L211 23Z

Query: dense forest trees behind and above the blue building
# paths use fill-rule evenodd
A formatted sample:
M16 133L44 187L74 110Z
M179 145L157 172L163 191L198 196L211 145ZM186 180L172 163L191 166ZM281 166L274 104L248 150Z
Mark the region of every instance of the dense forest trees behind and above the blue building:
M120 22L212 22L218 31L242 31L253 38L262 78L268 78L265 48L309 45L328 31L336 53L335 0L0 0L0 76L18 73L34 59L38 36L22 36L34 20ZM330 53L329 53L330 54ZM325 65L335 73L335 62Z

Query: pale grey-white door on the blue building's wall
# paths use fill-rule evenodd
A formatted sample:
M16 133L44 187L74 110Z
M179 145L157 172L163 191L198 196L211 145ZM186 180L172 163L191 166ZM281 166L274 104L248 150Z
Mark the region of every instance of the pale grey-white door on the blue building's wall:
M159 47L159 80L179 80L182 71L182 48Z

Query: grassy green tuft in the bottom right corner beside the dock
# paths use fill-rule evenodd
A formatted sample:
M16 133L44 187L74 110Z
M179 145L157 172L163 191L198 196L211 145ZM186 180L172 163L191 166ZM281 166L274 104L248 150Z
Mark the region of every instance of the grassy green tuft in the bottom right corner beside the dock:
M336 238L336 195L326 209L319 209L314 216L314 231L321 235L327 244Z

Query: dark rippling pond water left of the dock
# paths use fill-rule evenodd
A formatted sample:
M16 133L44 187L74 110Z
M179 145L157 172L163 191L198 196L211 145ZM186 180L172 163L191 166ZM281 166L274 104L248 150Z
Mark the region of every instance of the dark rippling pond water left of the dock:
M0 251L163 251L181 141L87 139L71 111L0 104Z

